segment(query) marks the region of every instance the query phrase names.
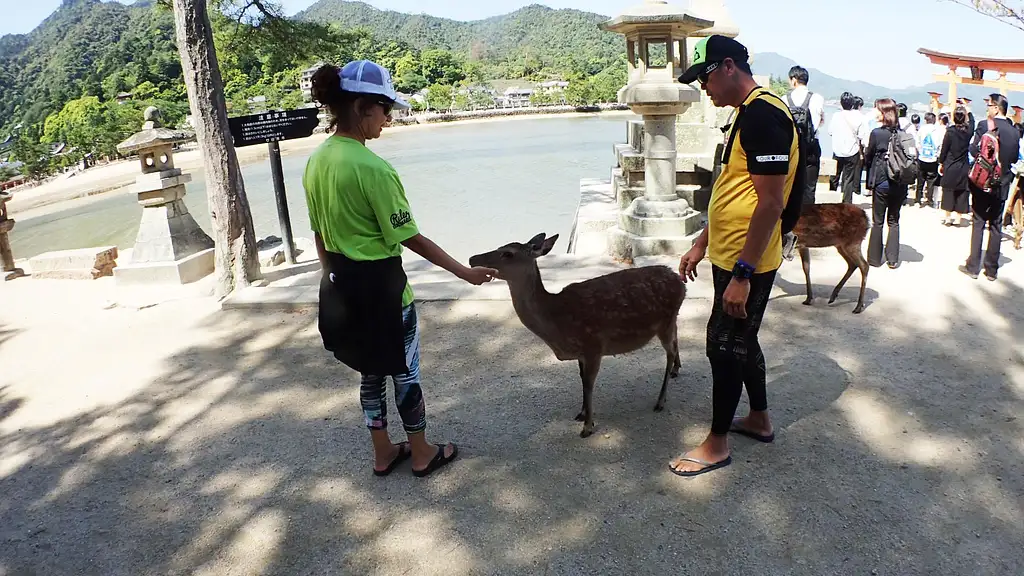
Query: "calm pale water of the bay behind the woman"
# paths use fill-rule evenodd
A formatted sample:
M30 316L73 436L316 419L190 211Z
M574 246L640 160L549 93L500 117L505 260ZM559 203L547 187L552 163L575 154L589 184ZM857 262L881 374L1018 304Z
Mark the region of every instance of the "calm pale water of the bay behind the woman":
M828 111L829 113L834 111ZM829 114L830 117L830 114ZM559 234L564 249L580 198L580 179L607 178L612 143L625 141L629 116L538 118L453 124L385 133L371 148L398 170L421 232L466 260L511 241ZM831 156L827 134L822 149ZM288 204L295 237L312 237L302 190L307 155L286 156ZM280 236L267 161L243 167L257 238ZM202 173L187 184L185 204L209 233ZM86 246L129 248L142 208L135 195L117 195L18 220L15 257Z

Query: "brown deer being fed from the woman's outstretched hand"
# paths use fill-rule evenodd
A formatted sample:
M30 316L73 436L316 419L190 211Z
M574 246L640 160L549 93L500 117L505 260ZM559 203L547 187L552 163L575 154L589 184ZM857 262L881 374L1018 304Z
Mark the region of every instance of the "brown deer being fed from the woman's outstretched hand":
M555 358L575 360L583 380L582 438L594 434L592 399L601 358L640 349L655 336L665 347L665 376L654 411L665 409L669 377L679 375L676 319L686 297L679 274L668 266L644 266L569 284L557 294L541 281L537 258L551 251L558 235L537 235L469 259L472 266L498 271L512 294L516 315L544 340Z

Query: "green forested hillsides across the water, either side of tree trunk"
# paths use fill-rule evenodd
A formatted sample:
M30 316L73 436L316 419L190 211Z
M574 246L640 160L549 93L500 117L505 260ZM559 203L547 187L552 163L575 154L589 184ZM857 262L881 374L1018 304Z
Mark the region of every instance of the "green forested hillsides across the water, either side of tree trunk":
M614 101L626 82L622 39L598 29L603 16L578 10L534 5L459 23L339 0L321 0L292 19L280 17L273 1L211 0L211 6L232 116L249 114L256 96L272 110L301 107L303 70L357 58L387 67L399 91L429 86L427 107L414 109L442 112L493 108L484 91L460 92L497 79L570 80L564 94L535 99L577 105ZM173 15L159 2L67 0L31 34L0 37L0 131L27 128L15 148L32 174L89 153L117 155L147 106L160 108L172 126L188 114ZM35 148L27 143L32 138ZM51 162L49 146L40 141L74 152Z

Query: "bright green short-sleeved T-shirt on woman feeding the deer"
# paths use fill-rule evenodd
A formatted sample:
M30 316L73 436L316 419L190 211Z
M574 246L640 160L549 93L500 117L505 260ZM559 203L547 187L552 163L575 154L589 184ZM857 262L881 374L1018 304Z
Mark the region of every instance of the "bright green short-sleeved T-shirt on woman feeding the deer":
M356 140L325 140L309 157L302 186L309 225L330 252L381 260L401 255L401 243L420 233L398 173ZM407 284L402 305L412 302Z

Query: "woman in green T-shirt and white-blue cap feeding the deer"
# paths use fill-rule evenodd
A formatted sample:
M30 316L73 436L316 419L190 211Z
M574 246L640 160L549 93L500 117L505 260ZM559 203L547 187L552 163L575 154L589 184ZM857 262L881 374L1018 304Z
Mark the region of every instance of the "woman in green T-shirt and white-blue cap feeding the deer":
M397 172L367 148L367 140L380 137L392 109L409 108L387 70L368 60L324 66L312 77L312 96L330 111L333 132L309 157L303 175L324 266L321 333L328 349L361 373L359 400L374 474L387 476L411 457L413 474L427 476L454 460L458 447L426 440L419 330L413 290L401 271L402 246L470 284L489 282L497 272L467 268L421 235ZM387 431L388 375L409 437L400 444L392 444Z

